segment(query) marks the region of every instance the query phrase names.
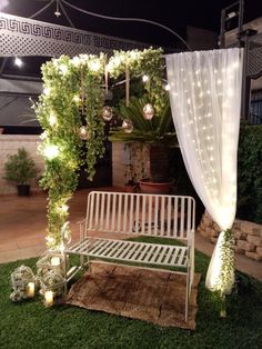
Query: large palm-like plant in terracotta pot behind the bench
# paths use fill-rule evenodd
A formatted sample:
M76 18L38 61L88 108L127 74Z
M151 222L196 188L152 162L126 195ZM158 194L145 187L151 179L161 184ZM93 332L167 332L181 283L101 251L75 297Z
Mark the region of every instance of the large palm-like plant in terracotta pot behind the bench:
M169 96L164 97L164 108L161 114L152 119L144 118L143 108L147 98L131 97L129 106L120 101L119 113L123 123L131 126L128 130L117 128L110 133L111 141L142 142L149 144L150 178L139 180L140 188L147 192L169 192L169 147L178 146L177 134L171 116Z

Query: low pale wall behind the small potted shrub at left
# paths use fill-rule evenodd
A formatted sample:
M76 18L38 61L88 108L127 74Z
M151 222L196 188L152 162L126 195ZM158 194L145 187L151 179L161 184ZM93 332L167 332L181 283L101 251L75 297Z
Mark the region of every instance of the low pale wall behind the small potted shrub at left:
M9 154L18 151L18 148L24 148L36 162L39 169L39 177L43 170L43 160L37 153L38 143L40 142L39 136L32 134L0 134L0 195L17 193L16 186L8 183L4 179L4 163ZM39 191L38 179L32 179L31 190Z

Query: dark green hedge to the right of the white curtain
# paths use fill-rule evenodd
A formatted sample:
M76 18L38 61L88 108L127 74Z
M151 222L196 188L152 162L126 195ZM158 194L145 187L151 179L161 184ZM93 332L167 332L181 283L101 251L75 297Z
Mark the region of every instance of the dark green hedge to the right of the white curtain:
M262 126L242 126L238 160L239 218L262 223Z

